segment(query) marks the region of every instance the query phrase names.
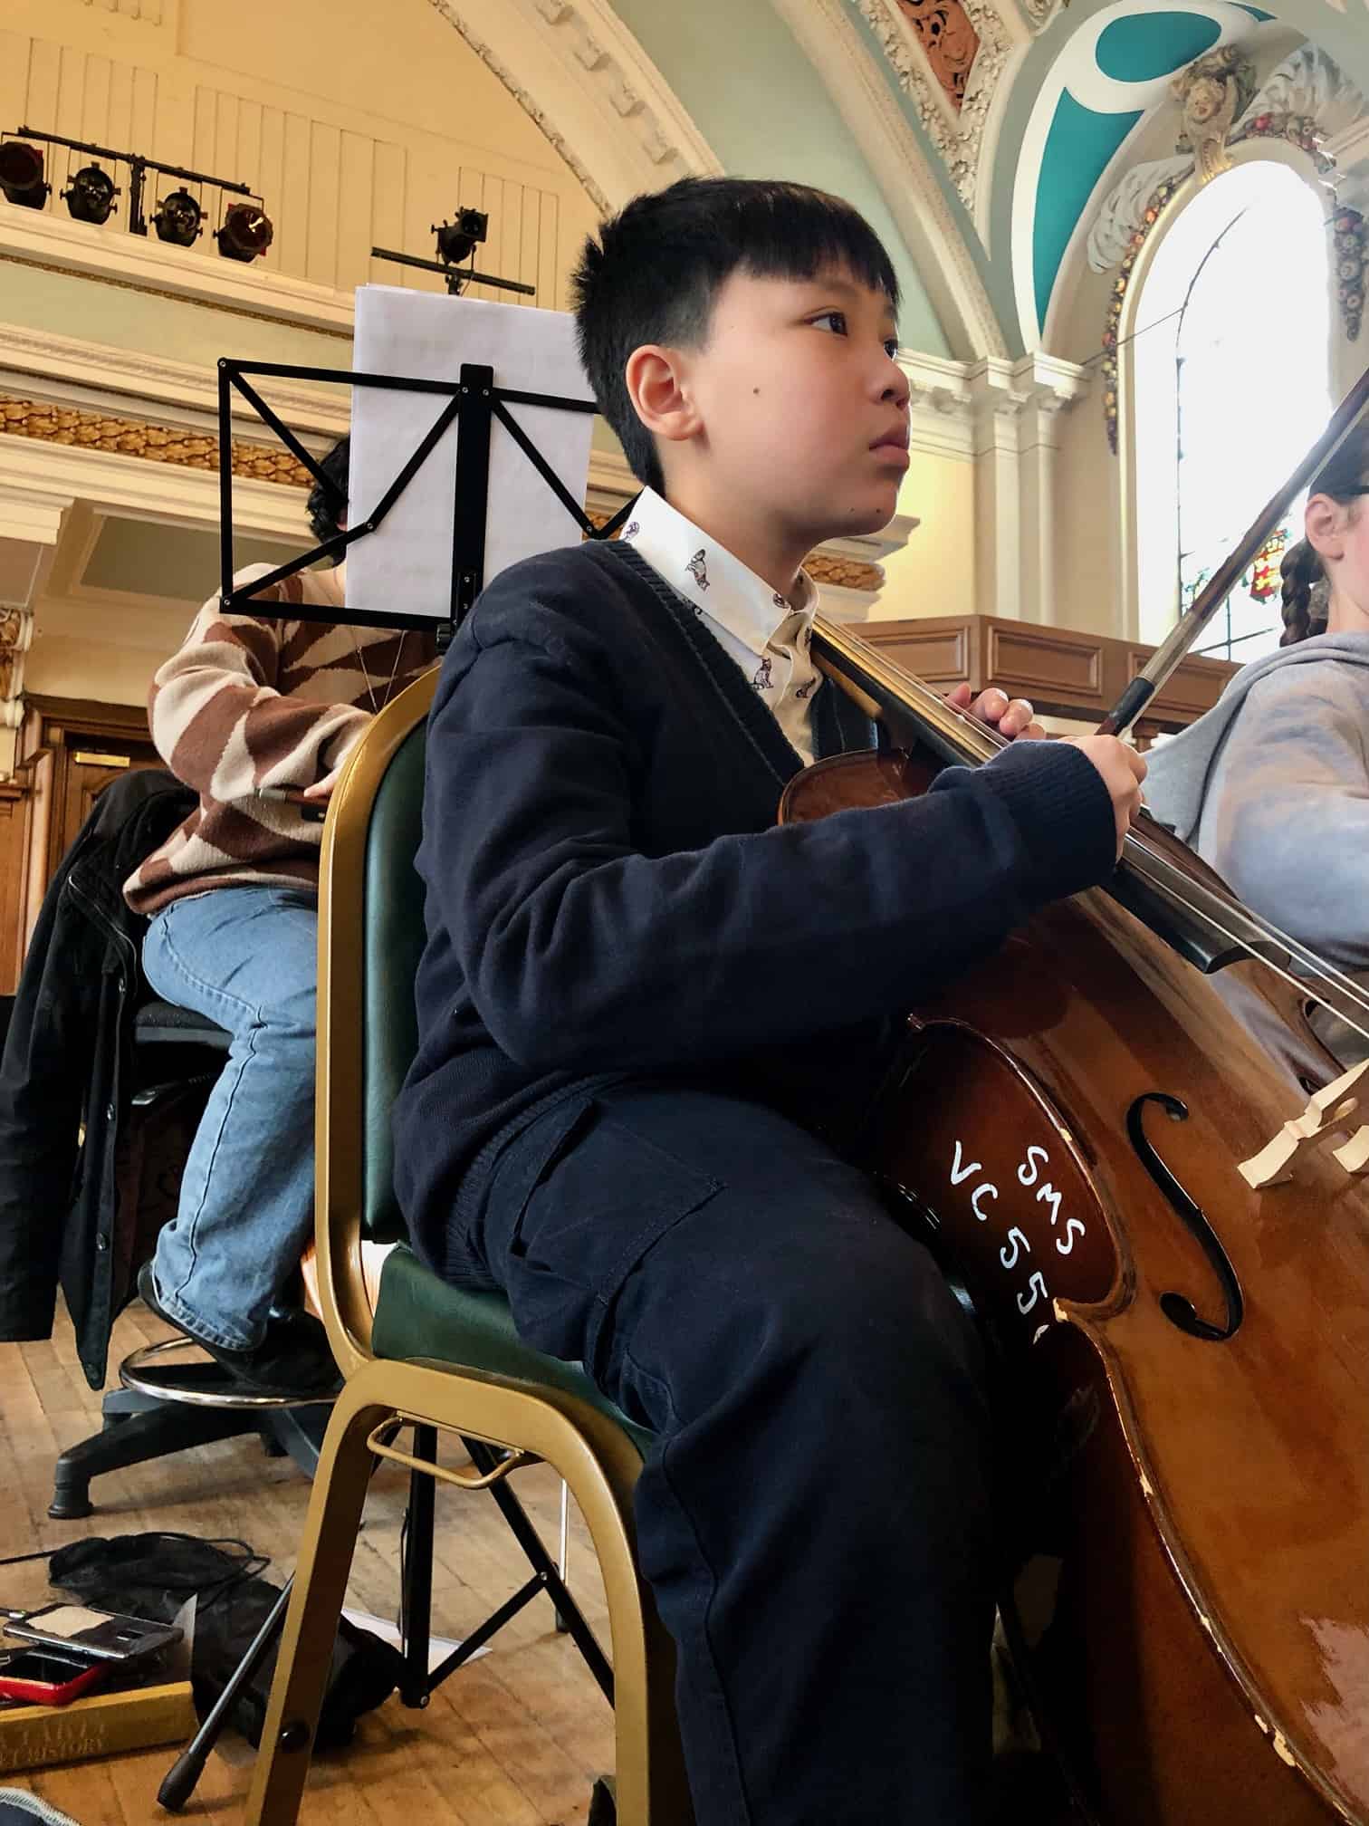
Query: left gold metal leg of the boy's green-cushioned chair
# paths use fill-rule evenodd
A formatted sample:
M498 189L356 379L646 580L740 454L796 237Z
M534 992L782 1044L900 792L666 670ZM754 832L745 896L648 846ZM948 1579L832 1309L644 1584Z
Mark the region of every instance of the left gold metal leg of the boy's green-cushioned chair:
M361 1371L338 1397L319 1453L245 1826L294 1826L299 1815L371 1479L367 1437L392 1411L367 1384Z

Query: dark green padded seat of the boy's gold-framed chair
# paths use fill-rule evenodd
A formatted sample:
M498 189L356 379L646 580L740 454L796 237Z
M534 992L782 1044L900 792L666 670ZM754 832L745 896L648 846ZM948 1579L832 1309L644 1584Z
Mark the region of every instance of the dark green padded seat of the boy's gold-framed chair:
M643 1457L655 1437L606 1401L579 1364L529 1349L513 1329L513 1313L502 1293L449 1287L403 1244L385 1256L371 1348L376 1357L425 1357L579 1395L621 1426Z

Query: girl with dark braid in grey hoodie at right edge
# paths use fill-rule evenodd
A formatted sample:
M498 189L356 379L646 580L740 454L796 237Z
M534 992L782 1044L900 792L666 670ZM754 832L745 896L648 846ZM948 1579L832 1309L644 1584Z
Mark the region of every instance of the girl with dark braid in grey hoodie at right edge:
M1252 911L1369 986L1369 424L1312 484L1283 641L1148 758L1146 803ZM1343 1059L1369 1039L1318 1010Z

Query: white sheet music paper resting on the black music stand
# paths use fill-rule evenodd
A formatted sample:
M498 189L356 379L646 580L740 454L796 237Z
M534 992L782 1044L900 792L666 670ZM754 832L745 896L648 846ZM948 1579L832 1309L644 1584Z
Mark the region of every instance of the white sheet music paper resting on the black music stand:
M590 400L575 351L575 320L560 310L493 305L475 298L363 285L356 292L352 365L363 374L456 380L464 362L495 369L495 385ZM445 394L352 389L349 526L374 509L423 435L440 418ZM590 413L509 405L509 415L584 502L590 480ZM387 614L451 612L451 517L458 425L385 515L380 530L347 548L347 606ZM518 559L573 546L580 530L498 420L489 440L486 582Z

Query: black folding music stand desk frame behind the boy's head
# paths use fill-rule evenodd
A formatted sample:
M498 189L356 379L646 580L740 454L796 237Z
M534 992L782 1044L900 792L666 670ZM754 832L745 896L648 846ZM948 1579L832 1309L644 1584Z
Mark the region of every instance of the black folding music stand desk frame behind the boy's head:
M261 422L276 433L290 455L308 469L308 473L329 491L334 506L347 508L341 489L323 475L318 458L312 456L287 424L266 405L248 374L268 376L272 380L318 380L341 382L350 387L383 387L391 393L433 393L444 396L447 404L438 413L414 451L405 460L400 473L381 495L376 508L365 520L349 526L345 531L323 539L308 551L277 564L265 577L257 577L243 588L234 588L234 460L232 460L232 393L246 400ZM323 557L341 557L356 539L374 533L394 502L405 491L420 467L436 449L445 431L456 424L456 482L453 489L451 517L451 610L445 621L431 615L396 615L391 610L367 608L329 608L310 615L307 604L292 603L292 621L343 621L369 628L433 628L436 626L438 652L451 645L451 635L469 614L486 577L486 519L489 513L489 435L495 420L537 469L546 486L570 513L586 539L611 539L632 513L633 502L619 511L601 528L593 526L584 508L570 495L551 464L517 422L511 405L549 405L562 413L593 413L593 400L568 400L553 393L518 393L495 385L493 367L464 362L456 380L418 380L398 374L354 374L349 369L334 367L292 367L283 362L219 362L219 603L225 614L257 614L252 606L263 590L285 582L296 572L307 570Z

